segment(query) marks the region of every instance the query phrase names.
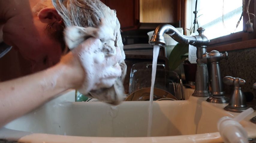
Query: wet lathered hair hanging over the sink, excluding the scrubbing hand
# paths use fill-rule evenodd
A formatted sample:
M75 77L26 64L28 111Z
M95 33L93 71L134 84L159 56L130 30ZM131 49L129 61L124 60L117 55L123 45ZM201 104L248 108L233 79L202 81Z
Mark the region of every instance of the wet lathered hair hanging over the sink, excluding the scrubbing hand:
M105 40L101 38L100 41L104 45L108 45L113 48L120 48L122 59L118 61L121 67L121 76L115 80L115 83L110 88L100 88L96 91L88 93L87 81L84 83L84 87L80 88L79 91L83 91L83 94L87 94L89 97L97 98L101 101L107 101L111 104L117 105L123 100L124 86L122 85L127 66L124 63L125 55L123 50L123 43L121 40L120 33L120 23L116 17L114 10L110 10L105 4L100 0L52 0L52 4L57 10L58 14L61 16L66 27L78 26L78 27L94 27L103 30L100 34L107 33ZM105 25L102 25L102 24ZM115 45L111 46L110 40L115 41ZM89 64L88 61L83 62ZM91 64L91 62L90 62ZM84 66L85 69L89 68ZM89 73L89 72L88 72ZM105 75L107 73L104 73ZM90 76L90 74L88 74ZM89 78L90 79L90 78Z

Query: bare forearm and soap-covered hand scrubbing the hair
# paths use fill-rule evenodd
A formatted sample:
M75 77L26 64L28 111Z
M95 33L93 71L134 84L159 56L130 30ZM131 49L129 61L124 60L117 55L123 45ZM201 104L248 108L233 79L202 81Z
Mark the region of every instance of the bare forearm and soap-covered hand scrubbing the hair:
M69 88L83 89L86 94L113 86L113 81L121 75L117 64L121 52L116 48L118 54L105 56L97 52L102 45L100 39L89 38L62 57L56 66L0 83L0 127Z

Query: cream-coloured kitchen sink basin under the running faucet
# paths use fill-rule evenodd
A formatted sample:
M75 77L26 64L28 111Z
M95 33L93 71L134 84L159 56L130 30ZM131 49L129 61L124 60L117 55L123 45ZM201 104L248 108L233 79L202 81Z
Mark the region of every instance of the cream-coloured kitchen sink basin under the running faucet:
M192 93L192 89L185 89L185 94ZM118 106L103 102L68 102L74 100L74 95L74 91L68 91L10 122L0 130L0 139L54 143L222 142L217 130L218 120L238 115L225 111L227 104L209 103L205 101L207 98L190 96L188 100L154 101L152 137L146 137L149 102L127 101ZM250 138L256 137L256 125L249 122L255 115L254 112L240 122Z

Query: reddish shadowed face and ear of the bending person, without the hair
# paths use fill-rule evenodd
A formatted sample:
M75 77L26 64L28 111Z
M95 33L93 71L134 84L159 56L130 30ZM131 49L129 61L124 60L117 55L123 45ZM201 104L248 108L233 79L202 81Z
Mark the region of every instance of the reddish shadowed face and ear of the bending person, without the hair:
M31 62L31 72L58 63L63 51L62 32L58 32L64 29L61 17L49 4L48 9L44 6L34 12L39 3L40 0L10 1L4 15L3 40Z

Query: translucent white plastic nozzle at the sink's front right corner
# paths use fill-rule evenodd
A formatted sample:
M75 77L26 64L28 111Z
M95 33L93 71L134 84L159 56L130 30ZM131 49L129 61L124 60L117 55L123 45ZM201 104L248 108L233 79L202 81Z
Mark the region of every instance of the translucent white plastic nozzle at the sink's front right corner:
M247 139L248 134L239 122L253 112L254 110L252 108L249 108L234 118L225 116L219 119L217 126L223 142L249 143Z

